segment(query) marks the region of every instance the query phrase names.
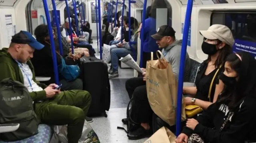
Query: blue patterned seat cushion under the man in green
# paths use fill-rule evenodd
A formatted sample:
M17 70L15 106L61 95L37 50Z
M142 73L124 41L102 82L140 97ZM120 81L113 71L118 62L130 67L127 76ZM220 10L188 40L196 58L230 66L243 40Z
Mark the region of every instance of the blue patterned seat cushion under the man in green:
M0 143L49 143L52 137L52 134L53 134L53 131L49 125L40 124L38 127L38 134L33 135L32 137L28 137L20 141L11 141L11 142L0 141Z

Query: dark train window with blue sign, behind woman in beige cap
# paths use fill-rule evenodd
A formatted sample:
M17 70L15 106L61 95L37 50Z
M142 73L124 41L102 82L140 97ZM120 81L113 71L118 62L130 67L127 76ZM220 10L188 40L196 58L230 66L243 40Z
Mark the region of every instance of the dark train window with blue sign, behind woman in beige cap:
M235 39L233 51L246 51L256 58L256 11L213 12L212 24L228 26Z

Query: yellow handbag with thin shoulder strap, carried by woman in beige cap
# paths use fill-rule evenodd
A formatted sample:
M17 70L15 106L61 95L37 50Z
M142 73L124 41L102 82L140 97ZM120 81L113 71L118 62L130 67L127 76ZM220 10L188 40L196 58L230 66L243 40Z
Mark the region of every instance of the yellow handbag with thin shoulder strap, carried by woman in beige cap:
M220 66L220 68L221 68L221 66ZM210 96L211 96L211 92L212 92L213 81L214 81L218 71L220 70L220 68L215 72L215 74L214 74L214 76L212 78L212 82L210 84L210 89L209 89L209 93L208 93L209 100L210 100ZM203 108L201 108L198 105L187 105L185 109L186 109L186 116L188 118L194 117L194 116L196 116L196 114L199 114L199 113L201 113L203 111Z

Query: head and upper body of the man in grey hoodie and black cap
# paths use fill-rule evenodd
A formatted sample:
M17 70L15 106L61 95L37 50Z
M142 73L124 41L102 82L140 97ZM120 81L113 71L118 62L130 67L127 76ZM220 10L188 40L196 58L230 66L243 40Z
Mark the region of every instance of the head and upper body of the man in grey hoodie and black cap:
M172 65L173 73L178 80L182 40L177 40L175 33L169 25L162 25L158 28L156 34L151 37L156 39L156 43L162 49L164 58ZM190 59L187 52L184 70L184 82L186 82L190 75Z

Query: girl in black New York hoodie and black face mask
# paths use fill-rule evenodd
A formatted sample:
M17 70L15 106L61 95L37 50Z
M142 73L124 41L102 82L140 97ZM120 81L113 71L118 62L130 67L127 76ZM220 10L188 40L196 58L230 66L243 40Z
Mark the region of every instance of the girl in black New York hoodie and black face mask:
M188 119L176 143L183 143L183 140L188 143L191 135L194 139L201 138L204 143L254 143L255 65L255 59L249 53L230 54L224 64L225 71L220 74L225 86L217 102L196 119Z

